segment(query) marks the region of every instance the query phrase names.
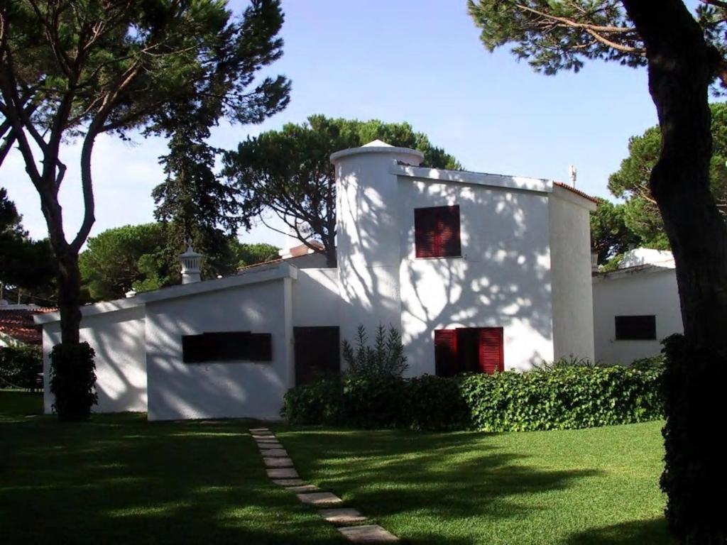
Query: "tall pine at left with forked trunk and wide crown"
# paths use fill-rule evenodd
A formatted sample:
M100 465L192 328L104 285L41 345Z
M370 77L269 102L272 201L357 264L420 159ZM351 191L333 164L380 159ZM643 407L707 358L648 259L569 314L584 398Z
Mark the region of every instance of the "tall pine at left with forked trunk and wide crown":
M289 81L256 76L282 55L278 0L233 17L221 0L17 0L0 4L0 163L17 145L57 260L63 342L79 334L78 253L95 221L99 134L169 134L182 105L214 123L257 123L285 107ZM206 125L206 126L209 126ZM84 219L65 234L61 143L81 140ZM66 182L68 183L68 182Z

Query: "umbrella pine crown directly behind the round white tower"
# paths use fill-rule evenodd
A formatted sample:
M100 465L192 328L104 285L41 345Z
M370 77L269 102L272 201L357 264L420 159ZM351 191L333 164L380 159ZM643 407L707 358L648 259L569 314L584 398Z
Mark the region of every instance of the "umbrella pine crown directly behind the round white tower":
M336 185L329 157L345 148L372 140L414 148L424 153L427 166L459 169L453 156L431 144L408 123L383 123L310 116L303 124L286 124L263 132L225 153L225 175L240 193L242 217L249 227L258 220L269 226L273 214L300 241L318 251L323 244L329 267L336 264Z

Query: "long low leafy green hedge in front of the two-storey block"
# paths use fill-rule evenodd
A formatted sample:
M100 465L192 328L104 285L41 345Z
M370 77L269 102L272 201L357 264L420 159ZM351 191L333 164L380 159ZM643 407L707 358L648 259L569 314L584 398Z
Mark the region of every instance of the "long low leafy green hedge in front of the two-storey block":
M661 368L570 366L443 379L344 376L295 387L292 424L478 429L576 429L662 418Z

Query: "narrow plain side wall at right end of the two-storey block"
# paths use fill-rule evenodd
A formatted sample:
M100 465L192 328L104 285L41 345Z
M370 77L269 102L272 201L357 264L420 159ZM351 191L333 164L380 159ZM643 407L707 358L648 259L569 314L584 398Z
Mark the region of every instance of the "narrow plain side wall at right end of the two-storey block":
M550 197L550 264L553 275L555 359L594 361L590 206L555 186ZM590 208L590 209L589 209Z

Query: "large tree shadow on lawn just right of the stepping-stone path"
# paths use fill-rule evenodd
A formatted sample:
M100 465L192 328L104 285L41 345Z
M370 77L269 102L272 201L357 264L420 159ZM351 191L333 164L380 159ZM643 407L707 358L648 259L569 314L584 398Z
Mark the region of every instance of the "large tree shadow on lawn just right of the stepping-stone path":
M529 512L550 508L523 498L604 473L529 467L529 456L480 443L467 433L307 431L281 434L281 441L316 484L342 494L374 520L400 514L404 525L419 517L436 521L428 527L409 526L411 542L422 544L479 543L458 538L452 525L467 525L473 517L491 525L517 522Z

